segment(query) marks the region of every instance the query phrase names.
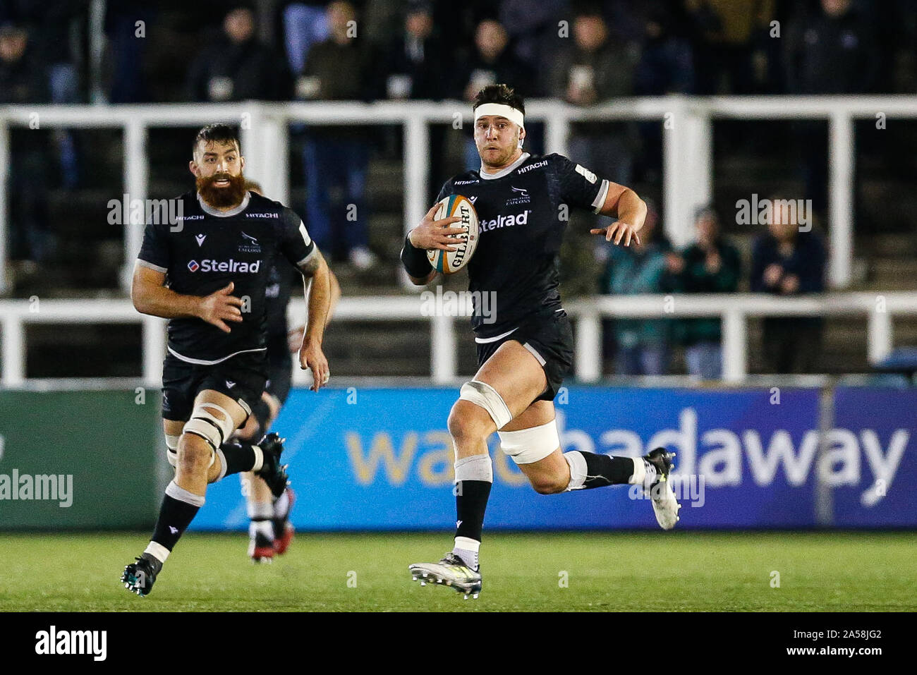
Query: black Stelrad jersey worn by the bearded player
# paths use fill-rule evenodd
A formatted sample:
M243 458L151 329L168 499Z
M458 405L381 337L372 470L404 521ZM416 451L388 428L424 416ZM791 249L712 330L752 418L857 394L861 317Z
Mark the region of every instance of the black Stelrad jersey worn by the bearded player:
M233 282L232 294L247 302L242 321L229 333L196 317L169 320L169 351L178 359L210 365L241 352L265 349L271 267L279 256L294 265L315 255L315 243L293 210L248 193L235 209L220 212L196 192L182 194L176 225L148 224L138 262L165 272L172 291L209 295ZM276 310L271 310L276 311ZM286 311L286 307L282 307Z

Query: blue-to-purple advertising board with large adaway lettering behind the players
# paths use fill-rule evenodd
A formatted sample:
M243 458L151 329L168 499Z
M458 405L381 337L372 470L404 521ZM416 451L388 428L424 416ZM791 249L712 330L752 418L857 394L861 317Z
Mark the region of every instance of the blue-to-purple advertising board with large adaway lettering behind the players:
M455 517L446 420L455 389L293 390L274 428L300 529L448 529ZM816 471L834 487L836 524L917 526L911 393L838 390L819 454L819 390L569 387L556 401L564 450L678 453L679 528L815 526ZM489 528L656 527L629 486L540 495L491 439ZM876 481L879 481L878 483ZM869 490L872 496L864 496ZM912 500L911 500L912 502ZM239 481L210 486L197 529L247 523Z

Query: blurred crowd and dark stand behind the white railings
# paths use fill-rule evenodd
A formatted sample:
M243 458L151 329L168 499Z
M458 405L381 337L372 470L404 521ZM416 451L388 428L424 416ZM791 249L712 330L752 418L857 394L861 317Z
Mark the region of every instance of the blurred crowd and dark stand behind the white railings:
M3 0L0 104L467 102L488 83L583 106L660 94L915 94L915 48L917 5L906 0ZM527 127L527 150L544 151L541 127ZM887 128L856 122L857 289L913 288L915 130L905 120ZM634 186L650 215L635 249L597 244L591 217L574 219L563 253L567 297L825 290L826 122L717 121L713 204L694 215L687 249L674 249L660 222L662 134L658 122L573 125L569 156ZM193 129L150 131L150 197L192 187L190 138ZM433 125L430 140L432 203L447 177L480 162L469 125ZM16 296L123 295L123 232L106 220L108 200L123 189L122 144L109 129L12 129ZM293 125L289 153L289 205L333 260L344 293L400 293L401 127ZM786 217L768 227L739 224L735 202L753 193L811 199L812 232ZM351 205L356 220L344 217ZM760 322L753 370L864 370L863 322L845 321ZM605 328L608 372L721 371L718 320ZM392 326L390 341L402 330ZM405 330L408 345L413 329ZM374 348L352 349L356 360ZM389 359L379 372L417 370L415 361Z

